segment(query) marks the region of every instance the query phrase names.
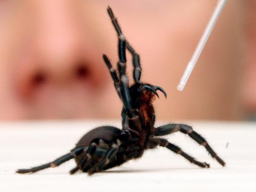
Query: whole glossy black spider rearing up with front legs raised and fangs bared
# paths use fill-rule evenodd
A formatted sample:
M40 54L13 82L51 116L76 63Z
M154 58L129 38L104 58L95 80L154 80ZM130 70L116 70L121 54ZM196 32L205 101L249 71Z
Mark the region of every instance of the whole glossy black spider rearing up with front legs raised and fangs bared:
M111 126L97 127L85 134L70 153L41 166L30 169L19 169L17 173L37 172L45 168L59 166L63 162L74 158L77 166L70 170L70 174L74 174L80 169L91 175L95 172L119 166L131 159L139 158L145 150L153 149L157 146L166 147L200 167L209 168L210 165L206 162L195 160L195 158L182 151L178 146L159 137L178 131L188 134L196 142L204 146L211 156L222 166L225 166L225 162L217 156L206 140L193 131L190 126L184 124L167 124L154 127L155 114L152 102L155 96L158 96L157 90L163 92L165 97L166 93L161 87L145 84L140 81L141 65L139 55L126 41L111 8L108 7L107 10L119 39L119 62L117 64L119 76L117 76L108 57L103 55L103 59L109 68L115 89L123 103L121 113L122 130ZM126 48L133 56L134 84L131 87L129 87L128 76L126 75Z

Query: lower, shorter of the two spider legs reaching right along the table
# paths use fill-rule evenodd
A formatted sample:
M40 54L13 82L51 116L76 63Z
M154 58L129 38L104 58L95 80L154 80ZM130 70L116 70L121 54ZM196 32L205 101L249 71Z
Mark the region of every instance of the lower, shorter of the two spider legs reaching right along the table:
M170 143L168 140L163 139L163 138L151 138L147 144L148 149L152 149L155 148L156 146L161 146L161 147L166 147L169 150L173 151L174 153L181 155L182 157L186 158L188 161L190 161L193 164L196 164L200 167L203 168L210 168L210 164L206 163L206 162L199 162L197 161L194 157L191 157L190 155L188 155L187 153L185 153L184 151L182 151L181 148L179 148L178 146Z

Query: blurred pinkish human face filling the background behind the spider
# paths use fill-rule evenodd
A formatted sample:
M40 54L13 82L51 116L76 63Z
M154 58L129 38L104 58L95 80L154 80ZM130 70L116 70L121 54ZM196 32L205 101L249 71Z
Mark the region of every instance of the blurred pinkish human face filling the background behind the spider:
M112 7L140 54L142 81L163 87L158 119L255 120L256 1L227 1L184 91L176 89L217 0L0 1L0 119L120 118ZM129 55L127 53L127 55ZM128 56L132 83L132 63Z

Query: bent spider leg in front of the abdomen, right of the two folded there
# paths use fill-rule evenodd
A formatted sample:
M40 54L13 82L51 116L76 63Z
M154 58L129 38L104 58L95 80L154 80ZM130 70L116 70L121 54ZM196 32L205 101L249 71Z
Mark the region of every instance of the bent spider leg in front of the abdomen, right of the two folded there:
M111 148L105 153L104 158L101 159L93 168L88 170L88 174L94 174L95 172L100 172L104 170L104 168L113 160L116 158L116 155L118 152L123 152L120 151L120 146L124 144L125 142L128 141L130 138L130 133L129 131L122 131L120 135L115 138L115 140L112 142ZM124 161L125 162L125 161Z

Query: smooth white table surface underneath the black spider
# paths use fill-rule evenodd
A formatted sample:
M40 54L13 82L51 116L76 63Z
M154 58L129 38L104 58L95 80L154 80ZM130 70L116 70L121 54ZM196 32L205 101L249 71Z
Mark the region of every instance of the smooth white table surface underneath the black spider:
M186 122L186 121L182 121ZM163 125L163 122L159 122ZM74 160L36 174L15 174L50 162L69 152L84 133L96 126L119 121L34 121L0 123L0 191L256 191L256 124L245 122L189 122L207 138L226 162L226 167L182 133L167 137L170 142L211 168L199 168L166 148L147 151L139 161L130 161L109 171L88 176L69 175ZM228 145L227 145L228 143Z

